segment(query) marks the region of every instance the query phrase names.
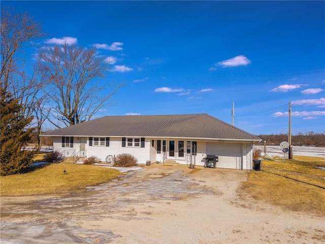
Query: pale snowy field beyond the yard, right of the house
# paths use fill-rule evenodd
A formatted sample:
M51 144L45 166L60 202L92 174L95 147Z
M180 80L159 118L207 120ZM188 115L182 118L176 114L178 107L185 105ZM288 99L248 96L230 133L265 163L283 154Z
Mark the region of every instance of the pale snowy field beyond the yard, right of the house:
M254 146L254 149L261 149L264 151L264 146ZM266 154L268 157L281 157L283 158L283 152L280 146L266 146ZM325 147L314 147L314 146L294 146L293 155L295 156L310 156L325 158ZM287 155L286 155L287 158Z

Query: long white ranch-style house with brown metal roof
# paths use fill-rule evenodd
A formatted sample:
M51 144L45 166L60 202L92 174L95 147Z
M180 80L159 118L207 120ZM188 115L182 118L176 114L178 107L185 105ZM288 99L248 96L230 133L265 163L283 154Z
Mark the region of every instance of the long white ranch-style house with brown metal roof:
M98 157L127 153L139 164L147 161L205 164L252 169L253 144L261 141L209 114L105 116L43 133L53 137L53 150L64 156Z

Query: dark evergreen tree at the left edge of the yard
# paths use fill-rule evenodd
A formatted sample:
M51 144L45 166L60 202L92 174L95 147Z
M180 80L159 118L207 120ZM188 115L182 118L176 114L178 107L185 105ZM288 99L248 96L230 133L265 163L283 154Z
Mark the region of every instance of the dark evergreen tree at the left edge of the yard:
M32 117L22 117L23 106L6 88L0 87L1 158L0 174L17 174L31 164L35 150L23 150L30 141L32 130L28 128Z

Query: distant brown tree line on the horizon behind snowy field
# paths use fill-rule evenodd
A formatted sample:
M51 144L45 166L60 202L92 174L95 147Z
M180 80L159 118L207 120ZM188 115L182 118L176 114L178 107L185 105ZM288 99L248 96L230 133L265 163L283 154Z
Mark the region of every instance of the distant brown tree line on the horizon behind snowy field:
M280 145L282 141L288 141L288 134L271 134L271 135L258 135L262 141L260 145ZM294 146L325 146L325 133L315 133L309 131L304 133L298 133L291 135L291 144Z

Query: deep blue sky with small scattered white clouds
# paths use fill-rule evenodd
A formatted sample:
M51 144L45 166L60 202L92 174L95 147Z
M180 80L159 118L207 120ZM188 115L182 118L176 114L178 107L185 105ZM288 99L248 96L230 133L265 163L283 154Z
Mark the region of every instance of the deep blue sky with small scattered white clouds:
M325 132L324 1L1 1L44 43L95 47L124 86L96 117L208 113L249 133ZM34 53L35 54L35 53ZM32 59L33 53L30 53Z

